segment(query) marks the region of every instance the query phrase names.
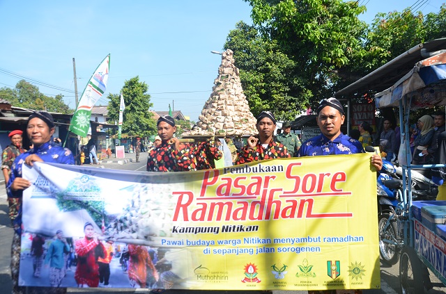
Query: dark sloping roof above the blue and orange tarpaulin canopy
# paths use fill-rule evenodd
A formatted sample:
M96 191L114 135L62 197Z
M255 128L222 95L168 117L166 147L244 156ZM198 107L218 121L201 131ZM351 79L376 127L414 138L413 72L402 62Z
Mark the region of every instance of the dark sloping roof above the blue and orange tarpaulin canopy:
M415 63L429 56L426 54L441 49L446 49L446 38L418 44L390 60L377 70L367 74L367 76L362 77L355 81L355 83L351 83L346 88L334 93L334 97L337 97L338 99L351 98L354 95L362 95L368 91L381 92L390 88L394 83L399 81L402 76L412 70Z

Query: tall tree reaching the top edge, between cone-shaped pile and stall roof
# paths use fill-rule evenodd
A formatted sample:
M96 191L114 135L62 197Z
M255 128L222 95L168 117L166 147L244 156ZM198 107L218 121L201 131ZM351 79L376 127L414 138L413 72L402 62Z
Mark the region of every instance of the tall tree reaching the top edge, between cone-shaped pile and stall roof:
M363 50L360 40L367 26L357 15L364 6L342 0L245 1L252 6L254 26L239 23L225 47L234 51L249 106L268 106L279 118L290 119L306 104L314 107L330 97L339 69ZM239 54L237 45L248 49L245 55ZM257 49L250 55L252 47ZM258 61L250 64L244 58ZM262 105L265 100L269 103Z

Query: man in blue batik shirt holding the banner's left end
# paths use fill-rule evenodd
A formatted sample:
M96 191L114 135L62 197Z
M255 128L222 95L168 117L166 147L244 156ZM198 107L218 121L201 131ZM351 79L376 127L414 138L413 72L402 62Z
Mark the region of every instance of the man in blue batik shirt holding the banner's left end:
M22 202L23 190L31 186L31 182L22 178L22 165L33 165L35 162L49 162L62 164L75 164L75 158L70 149L54 145L52 135L54 134L54 120L52 115L46 111L35 111L28 119L26 134L33 144L29 149L15 158L11 166L9 181L6 185L8 197L19 199ZM14 220L15 234L13 236L11 276L13 278L13 293L24 293L25 287L18 286L19 264L20 264L20 235L22 233L22 209L19 208ZM31 290L30 290L31 288ZM28 287L32 293L33 287ZM42 293L66 293L66 288L41 288Z

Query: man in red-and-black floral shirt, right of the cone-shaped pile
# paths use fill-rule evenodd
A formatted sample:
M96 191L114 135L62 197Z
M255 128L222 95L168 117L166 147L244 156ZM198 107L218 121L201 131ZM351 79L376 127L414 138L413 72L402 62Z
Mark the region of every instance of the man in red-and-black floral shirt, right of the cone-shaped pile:
M259 131L259 138L254 136L248 138L247 146L240 150L236 164L291 157L284 145L272 140L276 129L276 119L270 111L262 111L259 114L256 128Z

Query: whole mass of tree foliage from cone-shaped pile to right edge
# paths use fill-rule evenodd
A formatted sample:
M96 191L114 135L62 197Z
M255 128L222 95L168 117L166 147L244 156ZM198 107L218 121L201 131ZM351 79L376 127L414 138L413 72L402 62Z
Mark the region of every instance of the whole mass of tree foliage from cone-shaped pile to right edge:
M224 44L234 51L249 106L282 120L314 108L346 85L416 44L446 36L440 12L380 13L367 26L365 6L342 0L245 0L253 26L236 25Z

